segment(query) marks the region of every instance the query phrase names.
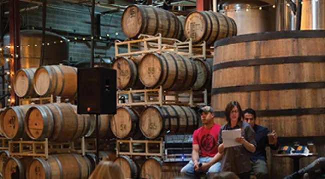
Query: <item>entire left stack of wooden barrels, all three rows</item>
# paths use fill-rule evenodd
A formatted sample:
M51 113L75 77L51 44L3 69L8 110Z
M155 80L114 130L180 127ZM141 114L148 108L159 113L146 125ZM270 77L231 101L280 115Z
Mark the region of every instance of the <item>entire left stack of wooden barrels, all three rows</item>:
M74 98L77 87L76 68L65 65L48 65L20 69L14 76L14 91L18 97L34 98L50 95ZM70 103L26 104L8 107L0 112L0 135L8 140L43 141L60 143L94 138L95 117L78 115L77 106ZM110 116L99 116L101 139L114 138L110 130ZM13 149L17 152L17 149ZM30 151L31 152L31 151ZM9 156L0 153L0 169L5 179L51 179L75 176L87 179L95 167L95 157L88 153L51 154L43 158ZM100 151L100 159L114 160L114 151ZM57 172L52 172L57 171Z

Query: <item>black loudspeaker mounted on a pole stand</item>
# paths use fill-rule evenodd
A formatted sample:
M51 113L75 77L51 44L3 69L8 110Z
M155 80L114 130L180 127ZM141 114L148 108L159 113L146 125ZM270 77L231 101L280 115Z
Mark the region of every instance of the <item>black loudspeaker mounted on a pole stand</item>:
M77 113L116 114L116 70L79 68L77 74Z

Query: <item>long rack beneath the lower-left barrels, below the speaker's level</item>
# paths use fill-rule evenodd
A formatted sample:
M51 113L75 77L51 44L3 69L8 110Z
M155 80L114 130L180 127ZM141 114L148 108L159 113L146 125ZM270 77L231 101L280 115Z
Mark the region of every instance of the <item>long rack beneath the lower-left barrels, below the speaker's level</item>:
M49 154L78 153L84 156L86 153L96 152L96 140L84 137L70 142L44 141L9 141L8 151L10 156L44 157L48 159Z

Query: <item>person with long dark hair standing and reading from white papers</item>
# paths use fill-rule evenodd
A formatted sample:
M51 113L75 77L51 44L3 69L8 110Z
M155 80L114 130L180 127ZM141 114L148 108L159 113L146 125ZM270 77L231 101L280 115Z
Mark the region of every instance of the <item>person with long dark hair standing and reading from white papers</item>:
M217 142L218 152L223 155L220 171L249 179L250 155L256 149L255 133L248 123L241 121L241 113L237 101L229 102L225 108L227 124L221 126Z

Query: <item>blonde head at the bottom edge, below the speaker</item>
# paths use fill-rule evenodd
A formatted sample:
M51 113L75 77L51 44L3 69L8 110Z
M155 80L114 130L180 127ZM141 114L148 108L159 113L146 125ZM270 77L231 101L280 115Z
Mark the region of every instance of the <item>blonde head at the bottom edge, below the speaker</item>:
M124 179L124 175L119 165L102 160L88 179Z

